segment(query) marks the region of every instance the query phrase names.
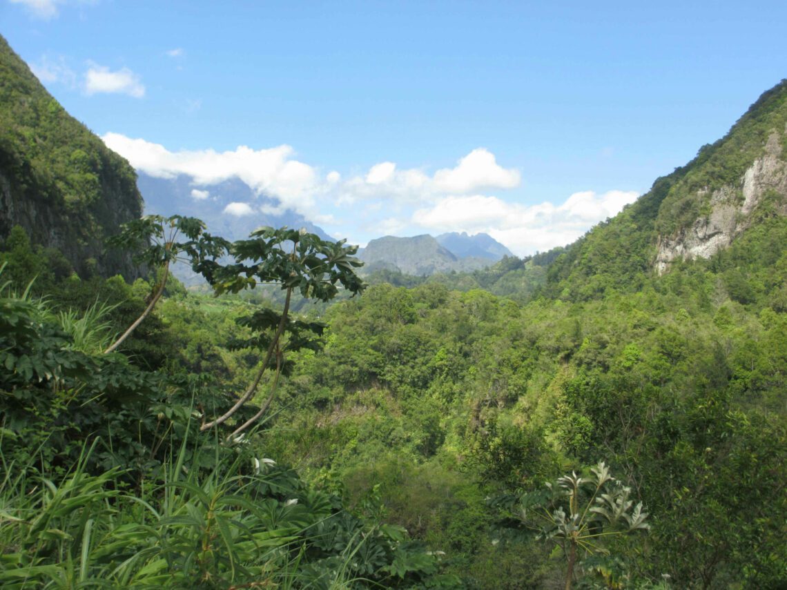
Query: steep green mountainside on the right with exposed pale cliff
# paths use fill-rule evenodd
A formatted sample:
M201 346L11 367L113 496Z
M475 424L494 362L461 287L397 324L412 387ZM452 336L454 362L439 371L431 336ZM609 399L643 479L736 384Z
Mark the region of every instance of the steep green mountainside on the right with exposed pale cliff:
M549 267L542 294L582 301L607 289L634 292L648 276L707 260L729 291L753 278L787 244L787 80L767 90L719 141L614 219L600 223ZM787 260L785 260L787 263ZM763 271L764 272L764 271ZM785 277L787 278L787 277ZM763 289L781 278L763 275Z

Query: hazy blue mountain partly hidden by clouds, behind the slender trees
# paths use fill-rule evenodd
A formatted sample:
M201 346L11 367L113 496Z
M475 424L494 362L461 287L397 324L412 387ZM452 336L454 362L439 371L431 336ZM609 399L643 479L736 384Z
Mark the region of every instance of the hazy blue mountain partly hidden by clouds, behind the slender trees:
M163 216L188 215L202 219L212 234L228 240L249 237L249 232L260 226L305 227L320 238L332 240L321 227L307 221L290 210L262 212L260 208L275 210L279 205L275 199L257 195L254 190L240 179L229 179L219 184L195 184L187 175L172 179L162 179L139 171L137 186L145 199L145 212ZM236 204L235 211L242 215L227 212L227 205ZM243 208L246 205L248 209Z

